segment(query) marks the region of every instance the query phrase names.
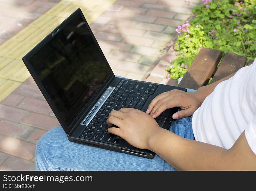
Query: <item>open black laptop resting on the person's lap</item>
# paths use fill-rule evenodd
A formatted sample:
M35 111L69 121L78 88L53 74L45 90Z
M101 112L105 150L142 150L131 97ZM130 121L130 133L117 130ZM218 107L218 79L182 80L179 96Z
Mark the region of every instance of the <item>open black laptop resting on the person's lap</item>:
M155 153L131 146L109 134L109 113L120 108L145 112L169 85L116 77L85 17L77 9L22 58L31 76L67 134L68 140L154 158ZM168 129L178 108L167 109L155 120Z

